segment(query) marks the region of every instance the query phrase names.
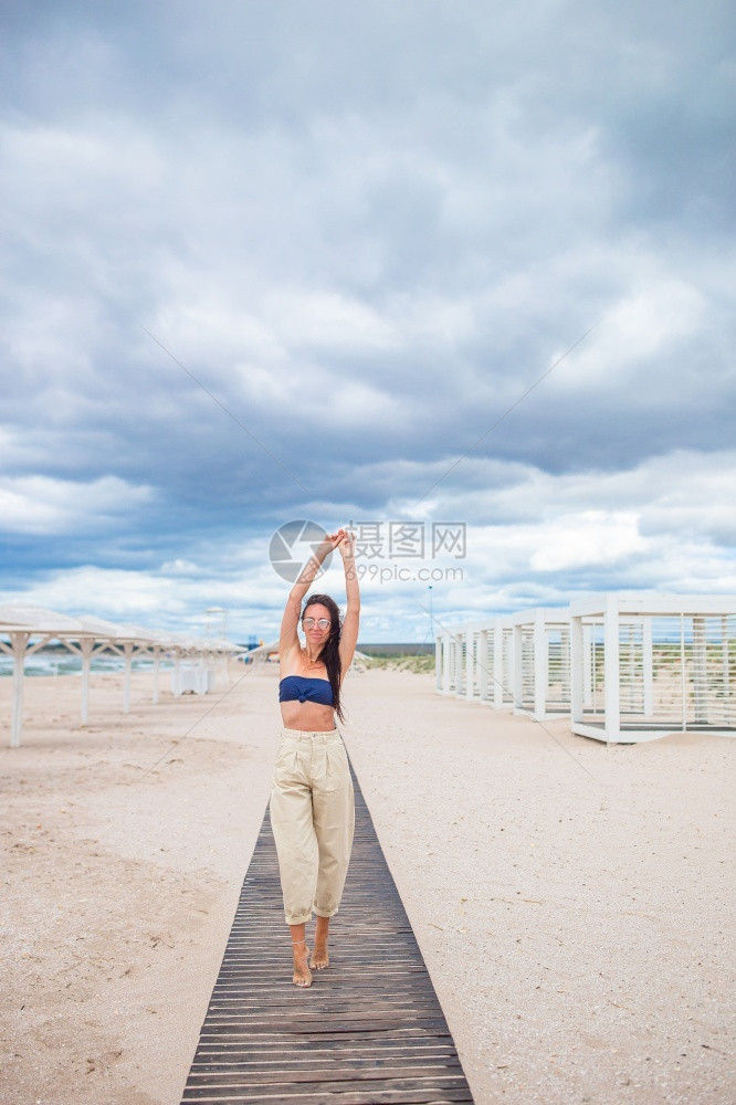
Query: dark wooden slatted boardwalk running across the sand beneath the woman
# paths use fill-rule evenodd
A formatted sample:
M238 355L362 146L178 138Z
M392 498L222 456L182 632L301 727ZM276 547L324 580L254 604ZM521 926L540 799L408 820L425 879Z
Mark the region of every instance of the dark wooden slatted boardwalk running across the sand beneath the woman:
M266 810L182 1102L473 1101L355 776L354 785L355 843L330 966L306 990L292 985Z

